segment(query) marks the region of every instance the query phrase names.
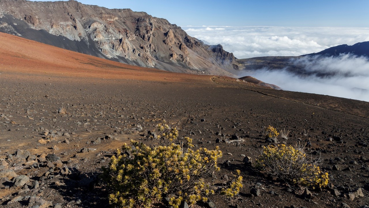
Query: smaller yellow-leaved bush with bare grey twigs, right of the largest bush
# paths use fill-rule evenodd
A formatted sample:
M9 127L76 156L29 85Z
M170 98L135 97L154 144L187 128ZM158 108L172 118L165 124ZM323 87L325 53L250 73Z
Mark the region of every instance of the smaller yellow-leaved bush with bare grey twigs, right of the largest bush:
M269 145L256 160L255 167L287 184L304 187L325 187L328 173L321 172L315 161L306 157L304 146Z

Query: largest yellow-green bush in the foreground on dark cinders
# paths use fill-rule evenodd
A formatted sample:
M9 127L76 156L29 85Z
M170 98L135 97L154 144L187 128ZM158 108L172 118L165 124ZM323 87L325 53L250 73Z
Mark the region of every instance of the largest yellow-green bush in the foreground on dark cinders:
M121 208L153 207L162 204L168 196L169 205L177 208L182 201L195 204L207 201L214 194L212 185L205 178L220 170L217 161L222 157L219 147L214 150L193 150L192 140L175 144L178 131L169 125L159 124L159 143L147 146L131 140L111 157L110 167L104 169L103 177L111 190L110 204ZM186 146L187 148L183 148ZM130 151L131 154L124 154ZM128 155L131 155L129 158ZM239 171L238 171L239 173ZM229 186L221 189L227 196L237 195L242 187L238 176Z

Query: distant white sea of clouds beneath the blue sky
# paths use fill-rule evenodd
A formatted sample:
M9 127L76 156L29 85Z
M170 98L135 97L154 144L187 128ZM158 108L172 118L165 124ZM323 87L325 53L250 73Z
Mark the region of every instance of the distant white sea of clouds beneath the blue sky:
M329 47L369 41L362 27L182 27L206 44L222 44L237 58L300 56Z

